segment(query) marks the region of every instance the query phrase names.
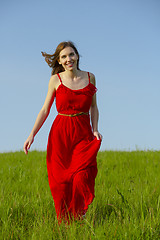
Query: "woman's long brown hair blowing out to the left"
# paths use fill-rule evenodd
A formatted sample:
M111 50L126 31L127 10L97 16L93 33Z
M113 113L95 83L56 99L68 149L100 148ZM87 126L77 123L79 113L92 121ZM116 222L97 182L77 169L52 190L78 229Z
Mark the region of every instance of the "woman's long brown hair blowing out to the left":
M52 73L51 75L60 73L60 72L64 72L64 68L61 64L59 64L58 60L59 60L59 54L60 52L66 48L66 47L71 47L74 49L75 53L78 56L78 60L77 60L77 69L79 69L79 53L77 51L77 48L75 47L74 43L71 41L68 42L61 42L57 48L54 54L47 54L45 52L41 52L42 56L45 57L46 62L48 63L48 65L52 68Z

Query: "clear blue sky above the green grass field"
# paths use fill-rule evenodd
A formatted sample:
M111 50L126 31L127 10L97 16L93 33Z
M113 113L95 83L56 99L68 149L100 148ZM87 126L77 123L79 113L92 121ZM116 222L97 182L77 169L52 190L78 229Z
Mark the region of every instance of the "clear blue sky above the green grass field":
M160 150L160 1L1 1L0 152L19 151L44 103L41 51L71 40L95 74L102 150ZM55 102L31 150L46 150Z

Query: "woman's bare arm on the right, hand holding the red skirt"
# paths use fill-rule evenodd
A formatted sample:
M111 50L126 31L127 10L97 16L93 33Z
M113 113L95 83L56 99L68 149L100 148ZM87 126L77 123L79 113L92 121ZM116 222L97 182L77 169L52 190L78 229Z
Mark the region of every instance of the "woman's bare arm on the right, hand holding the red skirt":
M95 76L93 74L90 74L91 76L91 82L96 85ZM102 135L98 132L98 120L99 120L99 111L97 107L97 100L96 100L96 93L92 97L92 104L90 107L90 115L91 115L91 122L92 122L92 129L93 129L93 135L97 137L99 140L102 139Z

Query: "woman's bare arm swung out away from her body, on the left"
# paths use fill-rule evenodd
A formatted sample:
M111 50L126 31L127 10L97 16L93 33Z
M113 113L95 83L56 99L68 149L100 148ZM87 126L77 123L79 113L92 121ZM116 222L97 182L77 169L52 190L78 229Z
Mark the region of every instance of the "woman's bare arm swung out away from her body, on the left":
M42 127L42 125L44 124L45 120L47 119L49 112L50 112L50 108L53 104L54 101L54 97L55 97L55 92L56 92L56 76L53 75L50 78L49 84L48 84L48 93L44 102L44 105L42 107L42 109L40 110L37 119L35 121L35 124L33 126L33 129L29 135L29 137L27 138L27 140L24 143L23 146L23 150L25 152L25 154L28 153L28 150L31 146L31 144L34 141L34 137L37 134L37 132L40 130L40 128Z

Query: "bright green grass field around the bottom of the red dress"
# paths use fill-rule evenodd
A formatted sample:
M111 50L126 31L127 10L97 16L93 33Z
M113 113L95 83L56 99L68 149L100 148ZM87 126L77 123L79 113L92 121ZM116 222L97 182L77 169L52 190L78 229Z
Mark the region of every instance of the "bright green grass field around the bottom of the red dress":
M86 218L57 223L46 152L0 154L0 239L160 239L160 152L103 151Z

